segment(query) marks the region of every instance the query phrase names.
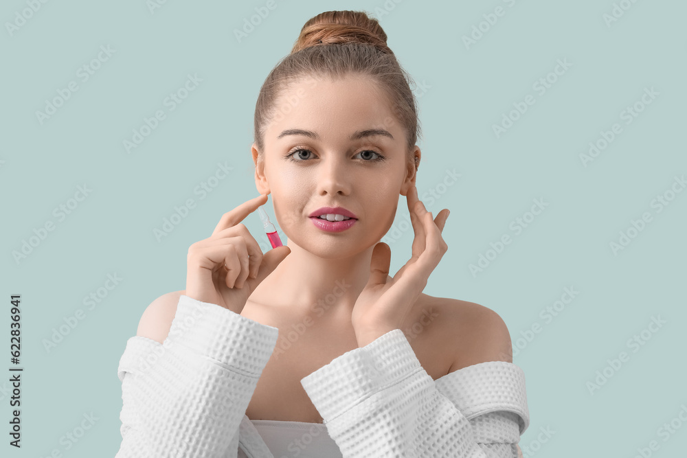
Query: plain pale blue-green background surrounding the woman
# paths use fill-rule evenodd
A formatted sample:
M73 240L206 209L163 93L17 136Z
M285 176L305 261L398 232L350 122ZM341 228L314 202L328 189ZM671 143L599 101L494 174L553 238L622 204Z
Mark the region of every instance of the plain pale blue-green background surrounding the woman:
M526 374L531 424L523 452L634 457L655 440L651 456L682 456L687 425L675 420L678 428L667 437L658 430L681 411L687 418L687 192L660 213L652 201L687 172L687 3L618 3L631 8L607 24L610 0L277 0L239 43L234 30L265 1L168 0L152 12L144 0L50 1L11 33L6 24L27 3L3 2L0 341L8 355L9 296L21 294L24 371L22 448L8 446L5 433L0 455L47 457L54 449L65 457L115 455L122 407L116 369L126 339L153 299L185 288L190 244L258 195L250 146L262 81L311 16L363 9L379 19L418 87L427 88L418 91L424 130L418 190L429 211L449 208L451 216L444 229L449 251L425 293L477 302L506 321L514 362ZM482 23L499 6L504 14L496 23ZM486 32L466 47L462 37L480 23ZM114 54L84 82L77 71L101 45ZM572 67L540 95L533 84L559 59ZM168 111L165 98L189 73L203 81ZM36 111L73 80L78 91L41 124ZM659 95L625 124L621 112L645 88ZM497 138L493 124L528 94L536 102ZM127 154L124 139L160 109L166 119ZM613 123L622 133L585 167L580 154ZM218 163L234 170L201 198L194 188ZM447 170L461 176L442 187ZM54 209L79 185L92 192L60 220ZM440 198L431 201L432 190ZM196 207L158 241L153 229L188 198ZM548 206L516 235L510 223L535 198ZM268 208L273 214L271 199ZM398 208L392 231L400 236L385 240L394 273L409 257L413 235L401 226L405 198ZM645 211L651 222L613 253L610 242ZM16 262L12 253L46 222L54 230ZM258 216L245 224L269 248ZM473 275L469 264L504 234L512 242ZM115 274L120 284L86 308L82 299ZM542 310L566 287L579 294L546 319ZM47 352L43 340L79 308L85 318ZM659 316L666 323L644 331L644 345L628 346ZM532 326L539 332L528 340ZM611 369L607 360L623 351L629 360ZM604 370L612 376L590 393L587 382ZM8 378L0 378L3 431L11 411ZM88 413L98 420L67 450L60 438ZM547 428L550 437L541 433Z

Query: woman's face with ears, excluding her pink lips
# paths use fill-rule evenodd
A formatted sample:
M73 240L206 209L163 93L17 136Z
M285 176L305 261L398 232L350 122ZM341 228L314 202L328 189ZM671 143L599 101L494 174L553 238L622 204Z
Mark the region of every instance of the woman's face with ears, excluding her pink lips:
M264 146L258 190L271 192L289 240L320 257L353 255L378 242L394 221L399 194L414 184L405 133L390 102L364 78L291 84ZM323 230L310 217L321 207L343 207L356 221L343 231Z

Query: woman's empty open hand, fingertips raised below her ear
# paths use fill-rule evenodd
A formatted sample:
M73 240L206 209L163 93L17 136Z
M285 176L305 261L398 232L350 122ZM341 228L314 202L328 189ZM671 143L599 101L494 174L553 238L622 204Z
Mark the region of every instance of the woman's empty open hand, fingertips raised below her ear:
M392 279L388 279L389 245L380 242L372 250L370 279L358 296L351 315L359 347L401 328L427 286L429 275L449 248L441 236L449 209L443 209L433 218L418 198L415 185L409 188L406 197L415 231L412 257Z

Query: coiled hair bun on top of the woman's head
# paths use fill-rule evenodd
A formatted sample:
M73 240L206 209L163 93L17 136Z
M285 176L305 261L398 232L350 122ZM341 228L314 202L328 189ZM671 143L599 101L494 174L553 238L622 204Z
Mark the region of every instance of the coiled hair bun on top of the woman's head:
M291 54L317 45L361 43L372 45L387 54L394 54L387 46L387 35L376 19L361 11L326 11L303 25Z

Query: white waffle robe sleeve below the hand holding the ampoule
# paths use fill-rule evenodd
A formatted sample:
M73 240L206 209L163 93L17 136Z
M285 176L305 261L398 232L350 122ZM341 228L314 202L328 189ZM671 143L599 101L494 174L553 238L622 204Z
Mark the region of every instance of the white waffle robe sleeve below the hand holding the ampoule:
M126 342L115 458L236 457L240 422L278 332L182 295L164 343Z

